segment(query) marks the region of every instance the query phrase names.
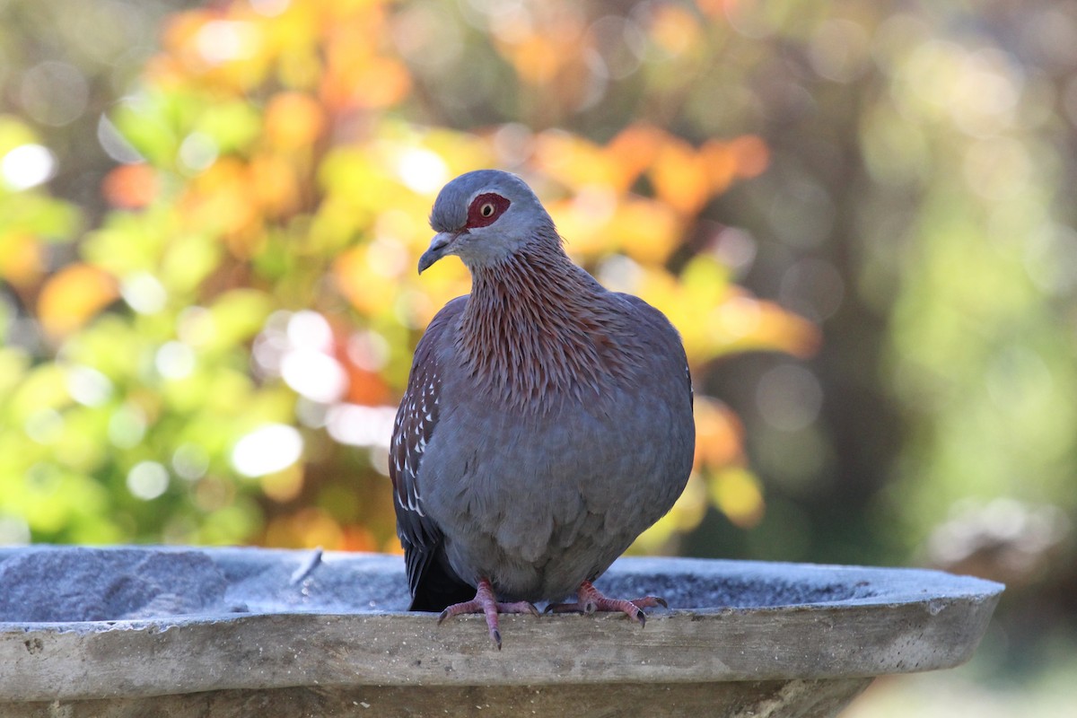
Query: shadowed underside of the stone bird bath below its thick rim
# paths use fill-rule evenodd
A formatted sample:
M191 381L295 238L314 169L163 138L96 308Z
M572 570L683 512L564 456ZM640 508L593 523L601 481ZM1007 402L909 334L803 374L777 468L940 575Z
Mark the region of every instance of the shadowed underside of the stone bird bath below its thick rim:
M828 718L871 678L565 686L361 686L225 690L142 699L0 703L0 718Z

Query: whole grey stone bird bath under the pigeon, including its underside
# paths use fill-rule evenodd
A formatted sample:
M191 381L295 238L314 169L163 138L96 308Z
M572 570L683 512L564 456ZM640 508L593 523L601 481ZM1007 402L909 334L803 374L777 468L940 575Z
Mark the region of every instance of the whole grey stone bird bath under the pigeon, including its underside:
M624 616L410 614L398 557L0 549L0 717L834 716L967 660L1003 587L914 569L621 559Z

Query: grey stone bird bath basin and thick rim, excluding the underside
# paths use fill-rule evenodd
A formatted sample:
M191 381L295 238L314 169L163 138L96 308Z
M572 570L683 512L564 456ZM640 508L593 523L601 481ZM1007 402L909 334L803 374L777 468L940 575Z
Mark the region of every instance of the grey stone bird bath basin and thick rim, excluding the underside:
M598 586L618 595L665 594L671 610L651 613L644 629L613 615L506 616L498 651L481 617L437 625L432 614L404 610L400 557L326 552L311 566L314 555L255 548L0 549L0 580L15 575L13 559L25 569L58 561L69 573L94 558L121 572L141 566L120 588L109 585L113 599L128 592L128 618L11 621L18 609L9 600L5 614L0 601L0 701L297 686L868 678L964 662L1003 590L912 568L626 558ZM212 600L194 610L180 605L183 615L138 617L172 594L139 593L131 581L167 583L168 572L160 572L178 561L205 575L212 586L204 597ZM223 585L214 583L213 571ZM694 595L744 596L752 587L754 605L685 607L705 603Z

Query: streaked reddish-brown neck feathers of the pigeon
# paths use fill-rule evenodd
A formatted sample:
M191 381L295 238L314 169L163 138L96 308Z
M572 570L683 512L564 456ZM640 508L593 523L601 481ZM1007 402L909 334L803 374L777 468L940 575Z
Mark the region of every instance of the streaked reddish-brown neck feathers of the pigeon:
M457 346L491 398L548 407L555 397L601 394L629 374L627 327L604 290L560 247L538 245L472 268Z

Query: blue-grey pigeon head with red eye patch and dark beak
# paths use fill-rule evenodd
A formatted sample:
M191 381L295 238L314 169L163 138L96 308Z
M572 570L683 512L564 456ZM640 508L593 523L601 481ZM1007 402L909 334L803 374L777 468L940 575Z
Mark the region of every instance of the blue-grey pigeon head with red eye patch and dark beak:
M560 243L531 187L499 170L467 172L445 185L430 226L437 234L419 258L419 273L449 254L475 269L498 266L534 242Z

